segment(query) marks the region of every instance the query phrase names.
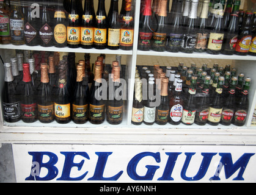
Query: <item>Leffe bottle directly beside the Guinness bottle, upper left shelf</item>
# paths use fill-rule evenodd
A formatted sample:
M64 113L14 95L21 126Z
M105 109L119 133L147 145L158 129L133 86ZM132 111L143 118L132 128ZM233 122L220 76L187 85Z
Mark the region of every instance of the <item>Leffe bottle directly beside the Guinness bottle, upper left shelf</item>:
M71 10L68 14L67 45L69 48L79 48L80 44L79 12L76 0L71 0Z

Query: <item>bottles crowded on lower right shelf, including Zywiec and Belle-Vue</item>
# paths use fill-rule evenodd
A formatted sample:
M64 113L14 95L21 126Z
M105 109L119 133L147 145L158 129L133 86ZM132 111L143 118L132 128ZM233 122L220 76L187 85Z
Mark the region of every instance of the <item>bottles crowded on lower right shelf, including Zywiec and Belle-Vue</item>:
M218 64L211 69L206 64L196 68L194 63L191 68L183 63L178 68L137 66L131 122L244 126L251 78L236 72Z

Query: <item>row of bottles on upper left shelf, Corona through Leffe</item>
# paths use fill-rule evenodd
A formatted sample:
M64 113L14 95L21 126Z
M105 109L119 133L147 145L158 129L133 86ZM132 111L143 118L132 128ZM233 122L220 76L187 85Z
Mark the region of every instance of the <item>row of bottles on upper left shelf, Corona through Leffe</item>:
M38 18L30 6L24 13L24 17L19 5L13 4L10 13L4 0L0 2L1 44L58 48L68 46L85 49L131 50L133 48L132 1L123 0L119 14L119 0L111 0L107 15L104 0L98 0L96 14L91 0L84 1L84 10L82 10L81 0L71 0L70 4L67 1L58 0L54 14L50 14L49 2L45 0L42 5L42 14Z

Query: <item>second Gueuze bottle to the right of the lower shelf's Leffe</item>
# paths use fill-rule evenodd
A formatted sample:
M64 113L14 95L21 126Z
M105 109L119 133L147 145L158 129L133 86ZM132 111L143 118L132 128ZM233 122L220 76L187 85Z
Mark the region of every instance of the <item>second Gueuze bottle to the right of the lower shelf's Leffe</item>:
M105 102L100 99L102 95L101 82L102 67L101 62L95 62L95 76L90 90L90 110L89 110L89 121L92 124L101 124L105 120Z

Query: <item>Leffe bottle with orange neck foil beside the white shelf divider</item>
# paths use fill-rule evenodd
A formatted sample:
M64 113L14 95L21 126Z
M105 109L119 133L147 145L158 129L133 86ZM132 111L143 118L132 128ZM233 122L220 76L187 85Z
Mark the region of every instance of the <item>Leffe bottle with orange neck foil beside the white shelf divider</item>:
M120 32L120 49L131 50L133 49L133 34L134 34L134 21L132 1L125 0L123 4L125 13L122 16L122 25Z

